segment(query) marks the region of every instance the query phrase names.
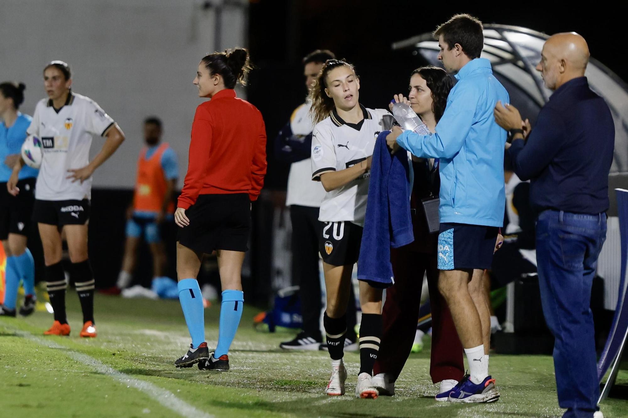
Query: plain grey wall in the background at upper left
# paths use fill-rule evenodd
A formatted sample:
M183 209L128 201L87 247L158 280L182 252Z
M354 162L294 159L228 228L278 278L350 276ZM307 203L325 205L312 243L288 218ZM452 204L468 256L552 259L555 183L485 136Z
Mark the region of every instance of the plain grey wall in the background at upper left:
M95 173L94 187L133 187L147 115L163 120L183 178L195 108L205 100L192 85L198 62L246 46L247 8L242 0L4 0L0 80L26 84L20 110L33 114L45 97L43 67L70 64L73 90L98 102L127 137ZM92 156L100 146L95 139Z

